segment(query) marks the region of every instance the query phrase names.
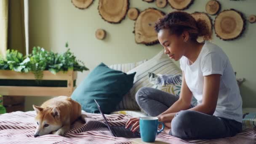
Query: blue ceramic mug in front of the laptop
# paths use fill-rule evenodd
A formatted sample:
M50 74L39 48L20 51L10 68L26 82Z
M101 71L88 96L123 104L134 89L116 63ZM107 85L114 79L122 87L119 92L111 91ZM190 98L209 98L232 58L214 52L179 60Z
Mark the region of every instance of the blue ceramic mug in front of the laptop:
M162 124L163 127L160 131L157 131L159 124ZM163 131L164 128L164 123L159 122L157 117L139 118L139 130L141 133L141 139L144 142L154 142L157 134Z

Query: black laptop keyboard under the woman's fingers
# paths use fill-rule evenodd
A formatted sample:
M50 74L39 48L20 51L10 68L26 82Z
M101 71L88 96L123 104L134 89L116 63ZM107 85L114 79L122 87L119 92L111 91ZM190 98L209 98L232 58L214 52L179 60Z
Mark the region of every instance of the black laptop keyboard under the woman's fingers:
M139 137L140 134L136 131L133 133L131 131L131 128L125 128L125 126L111 126L112 131L115 132L115 134L118 137Z

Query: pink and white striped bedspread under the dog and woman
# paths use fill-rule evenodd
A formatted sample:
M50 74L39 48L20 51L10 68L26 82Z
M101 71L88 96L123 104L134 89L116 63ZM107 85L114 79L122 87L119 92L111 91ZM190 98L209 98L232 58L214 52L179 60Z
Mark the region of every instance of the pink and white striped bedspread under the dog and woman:
M12 112L0 115L0 144L131 144L131 139L116 138L108 131L103 117L87 114L86 121L77 120L63 136L34 137L35 111ZM106 115L110 125L125 125L127 115ZM157 135L160 141L171 144L256 144L256 128L248 128L234 137L215 140L182 140L164 132Z

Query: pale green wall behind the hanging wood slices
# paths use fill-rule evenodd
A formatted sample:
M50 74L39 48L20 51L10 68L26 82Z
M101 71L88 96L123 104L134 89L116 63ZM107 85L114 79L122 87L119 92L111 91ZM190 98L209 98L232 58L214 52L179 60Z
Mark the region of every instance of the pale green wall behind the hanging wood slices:
M235 8L249 16L256 14L256 0L219 0L221 10ZM120 24L109 24L99 16L97 9L99 0L85 10L75 8L71 0L29 0L29 45L42 46L55 52L65 51L64 44L69 47L78 59L85 62L91 70L101 61L106 64L129 63L150 59L162 47L160 44L145 46L136 44L132 33L134 21L126 17ZM205 12L208 0L195 0L188 10ZM142 0L130 0L130 7L140 11L154 7L155 3L146 3ZM161 9L165 13L173 11L170 5ZM214 16L211 16L214 20ZM97 40L95 31L98 28L107 31L105 40ZM241 86L243 107L256 107L256 68L254 55L256 24L246 22L246 30L242 37L233 41L223 41L213 35L213 43L219 45L229 56L237 77L245 77ZM179 62L176 62L179 65ZM78 74L78 84L88 72ZM32 110L32 104L40 105L50 97L27 97L26 110Z

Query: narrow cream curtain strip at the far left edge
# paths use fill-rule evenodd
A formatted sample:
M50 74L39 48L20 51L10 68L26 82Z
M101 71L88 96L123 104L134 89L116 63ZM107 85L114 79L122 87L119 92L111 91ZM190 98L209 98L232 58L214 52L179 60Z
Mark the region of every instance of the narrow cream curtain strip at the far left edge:
M8 37L8 0L0 0L0 55L5 57Z

